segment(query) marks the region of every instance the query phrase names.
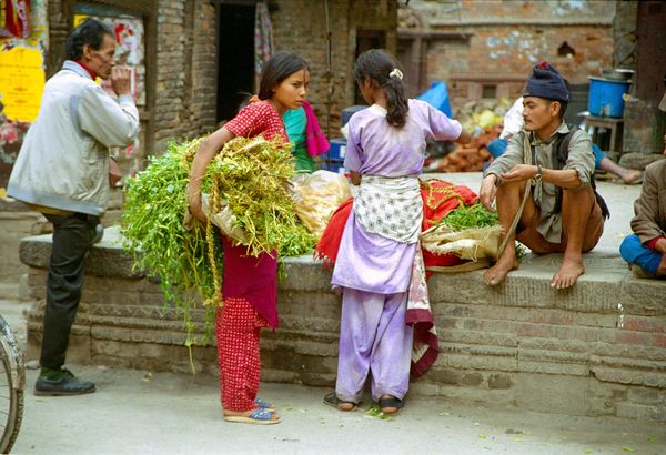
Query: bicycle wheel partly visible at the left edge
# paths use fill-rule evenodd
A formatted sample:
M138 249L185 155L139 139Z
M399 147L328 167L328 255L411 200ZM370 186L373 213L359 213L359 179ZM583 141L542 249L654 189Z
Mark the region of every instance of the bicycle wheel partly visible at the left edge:
M18 357L20 352L10 346L13 336L7 332L9 328L3 320L0 324L3 325L0 332L0 453L7 454L17 441L23 419L23 388L17 383L23 371Z

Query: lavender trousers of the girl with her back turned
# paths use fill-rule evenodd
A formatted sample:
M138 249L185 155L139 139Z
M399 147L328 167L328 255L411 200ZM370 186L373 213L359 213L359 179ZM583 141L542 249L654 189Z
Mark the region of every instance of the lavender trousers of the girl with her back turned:
M372 398L403 398L410 385L412 326L405 324L407 293L377 294L345 287L342 297L335 393L359 403L372 372Z

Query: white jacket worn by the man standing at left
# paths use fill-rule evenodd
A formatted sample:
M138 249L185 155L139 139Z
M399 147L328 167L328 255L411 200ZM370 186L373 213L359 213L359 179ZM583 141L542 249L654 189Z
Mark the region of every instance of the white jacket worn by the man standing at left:
M131 144L138 131L132 97L117 102L68 60L44 87L7 193L36 205L99 215L109 201L109 148Z

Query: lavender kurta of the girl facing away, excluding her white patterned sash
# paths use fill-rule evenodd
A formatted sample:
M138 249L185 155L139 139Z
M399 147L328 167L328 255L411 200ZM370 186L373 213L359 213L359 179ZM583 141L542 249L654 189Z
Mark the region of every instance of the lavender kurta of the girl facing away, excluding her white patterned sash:
M394 128L377 104L349 122L344 166L362 175L417 178L425 160L425 140L455 141L462 125L426 102L410 100L407 122ZM405 244L366 232L354 212L344 228L331 283L379 294L405 292L416 243Z

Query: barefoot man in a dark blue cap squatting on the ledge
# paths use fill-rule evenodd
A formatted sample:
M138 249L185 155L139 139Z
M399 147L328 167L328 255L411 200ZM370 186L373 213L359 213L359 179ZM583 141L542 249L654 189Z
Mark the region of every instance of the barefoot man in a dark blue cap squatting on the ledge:
M512 138L481 183L482 204L492 210L496 198L500 223L508 236L484 280L498 284L518 266L514 242L518 240L537 254L564 253L551 286L565 289L585 272L582 254L602 236L607 209L593 189L589 135L582 130L569 134L563 121L569 95L562 75L541 62L534 67L523 97L524 131ZM533 195L519 214L515 233L509 232L527 185Z

